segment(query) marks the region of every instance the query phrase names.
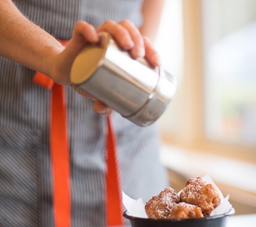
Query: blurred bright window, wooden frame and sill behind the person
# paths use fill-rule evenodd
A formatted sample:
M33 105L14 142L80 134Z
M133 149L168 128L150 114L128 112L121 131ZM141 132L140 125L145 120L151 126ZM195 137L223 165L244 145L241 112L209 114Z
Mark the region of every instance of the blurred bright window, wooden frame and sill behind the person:
M171 186L209 174L256 213L256 1L166 0L155 46L178 81L158 120Z

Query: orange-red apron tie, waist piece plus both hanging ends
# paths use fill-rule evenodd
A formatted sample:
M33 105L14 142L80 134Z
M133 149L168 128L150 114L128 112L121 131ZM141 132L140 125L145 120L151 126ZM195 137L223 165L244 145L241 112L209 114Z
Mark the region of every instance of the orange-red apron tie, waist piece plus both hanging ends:
M68 41L61 41L65 46ZM65 87L54 83L44 74L36 72L33 82L51 93L50 152L53 179L53 210L55 227L71 226L70 154L66 118ZM107 118L106 140L106 220L107 226L123 225L122 195L119 182L119 166L116 154L116 138L111 116Z

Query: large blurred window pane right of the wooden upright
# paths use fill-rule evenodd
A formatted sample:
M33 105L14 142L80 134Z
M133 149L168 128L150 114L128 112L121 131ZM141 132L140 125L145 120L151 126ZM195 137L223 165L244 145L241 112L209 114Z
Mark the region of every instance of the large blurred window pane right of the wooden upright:
M256 146L256 1L202 3L206 136Z

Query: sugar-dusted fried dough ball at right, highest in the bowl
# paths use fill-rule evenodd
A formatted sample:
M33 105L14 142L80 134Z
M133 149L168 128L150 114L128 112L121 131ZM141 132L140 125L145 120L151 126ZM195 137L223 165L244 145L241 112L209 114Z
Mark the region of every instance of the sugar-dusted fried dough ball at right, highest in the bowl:
M211 211L220 204L218 192L202 178L190 178L180 197L182 202L200 207L204 216L209 216Z

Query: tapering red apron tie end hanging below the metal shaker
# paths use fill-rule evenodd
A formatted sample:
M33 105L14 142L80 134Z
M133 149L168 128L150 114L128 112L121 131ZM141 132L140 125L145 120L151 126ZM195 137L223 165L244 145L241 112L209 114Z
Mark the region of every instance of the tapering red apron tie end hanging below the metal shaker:
M112 115L108 115L108 136L107 136L107 175L106 175L106 194L107 194L107 226L123 225L122 217L122 194L120 183L120 169L117 162L116 137L112 124Z

